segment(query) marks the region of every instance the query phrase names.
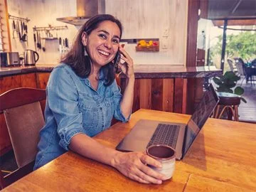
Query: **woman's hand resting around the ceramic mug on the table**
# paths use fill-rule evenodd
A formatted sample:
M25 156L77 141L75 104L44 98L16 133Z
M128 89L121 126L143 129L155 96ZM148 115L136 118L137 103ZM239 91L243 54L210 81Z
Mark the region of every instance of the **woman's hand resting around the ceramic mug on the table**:
M155 159L143 154L142 152L118 152L112 161L112 166L120 171L124 176L132 178L140 183L161 184L166 177L149 166L161 167L161 163Z

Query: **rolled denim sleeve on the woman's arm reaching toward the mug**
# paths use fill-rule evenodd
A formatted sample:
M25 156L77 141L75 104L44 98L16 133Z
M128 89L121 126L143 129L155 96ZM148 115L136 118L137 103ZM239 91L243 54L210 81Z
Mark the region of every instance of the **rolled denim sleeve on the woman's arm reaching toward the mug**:
M58 79L58 80L57 80ZM68 150L70 140L82 133L82 114L78 108L78 91L65 68L55 68L47 87L48 104L58 125L60 146Z

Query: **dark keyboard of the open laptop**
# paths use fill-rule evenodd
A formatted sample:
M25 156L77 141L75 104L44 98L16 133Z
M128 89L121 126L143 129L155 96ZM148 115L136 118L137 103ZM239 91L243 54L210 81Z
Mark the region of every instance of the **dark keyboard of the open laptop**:
M179 128L180 126L174 124L159 124L146 147L153 144L165 144L175 149Z

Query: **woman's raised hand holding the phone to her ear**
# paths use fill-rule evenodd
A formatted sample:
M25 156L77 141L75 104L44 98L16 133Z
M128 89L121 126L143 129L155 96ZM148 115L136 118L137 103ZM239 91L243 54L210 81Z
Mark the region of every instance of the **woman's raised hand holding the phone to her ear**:
M121 53L121 60L125 62L119 62L118 67L122 70L122 73L127 75L127 78L134 78L134 63L132 58L121 45L119 45L119 51Z

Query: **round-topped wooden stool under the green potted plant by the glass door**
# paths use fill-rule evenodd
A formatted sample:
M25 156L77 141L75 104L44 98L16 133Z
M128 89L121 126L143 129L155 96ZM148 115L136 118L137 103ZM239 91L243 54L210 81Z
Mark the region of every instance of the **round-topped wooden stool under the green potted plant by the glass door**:
M223 115L223 112L227 112L228 119L234 121L239 121L238 119L238 106L241 102L241 97L229 92L217 92L220 101L218 102L217 107L214 110L213 117L220 119Z

